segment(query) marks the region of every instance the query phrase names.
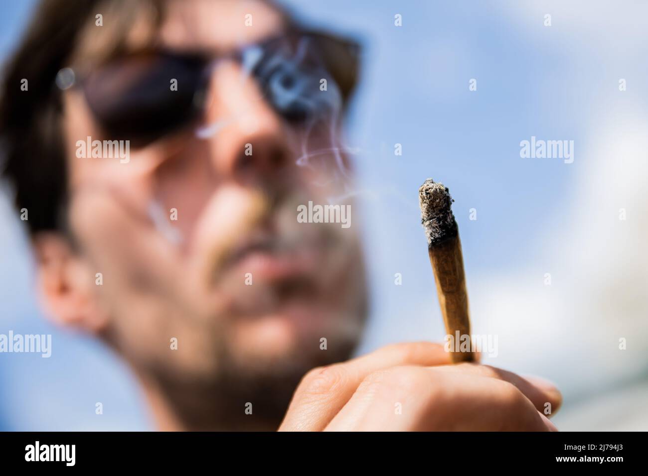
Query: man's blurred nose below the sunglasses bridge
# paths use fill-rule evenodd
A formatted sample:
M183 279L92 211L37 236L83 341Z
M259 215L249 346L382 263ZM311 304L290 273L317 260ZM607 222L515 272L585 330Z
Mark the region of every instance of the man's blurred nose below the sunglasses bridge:
M216 174L246 183L267 182L288 163L281 118L235 62L220 63L209 87L205 130Z

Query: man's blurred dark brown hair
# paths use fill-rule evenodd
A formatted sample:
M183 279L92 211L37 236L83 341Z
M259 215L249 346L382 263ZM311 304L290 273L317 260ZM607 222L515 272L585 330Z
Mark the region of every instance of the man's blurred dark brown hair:
M121 16L154 6L161 21L163 0L41 0L19 47L6 63L0 89L0 173L15 188L17 209L29 212L29 232L65 229L67 166L62 130L62 95L54 81L75 53L84 27L108 7ZM127 11L130 10L130 11ZM158 23L159 24L159 23ZM126 27L124 25L124 27ZM123 29L123 27L122 27ZM119 34L119 32L118 32ZM326 36L323 36L326 38ZM341 40L341 39L338 39ZM356 84L353 40L336 41L324 50L346 103ZM27 79L28 91L21 91Z

